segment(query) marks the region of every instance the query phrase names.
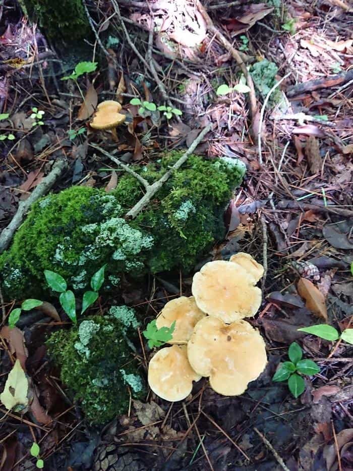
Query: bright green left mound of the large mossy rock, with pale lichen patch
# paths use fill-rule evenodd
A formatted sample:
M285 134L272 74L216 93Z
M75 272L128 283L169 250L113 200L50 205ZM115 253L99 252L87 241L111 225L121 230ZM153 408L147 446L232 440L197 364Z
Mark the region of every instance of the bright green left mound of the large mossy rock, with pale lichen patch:
M44 270L60 273L75 290L86 288L106 263L108 285L119 284L116 274L144 273L153 239L131 227L123 214L113 195L83 186L38 201L11 249L0 256L4 294L40 296Z

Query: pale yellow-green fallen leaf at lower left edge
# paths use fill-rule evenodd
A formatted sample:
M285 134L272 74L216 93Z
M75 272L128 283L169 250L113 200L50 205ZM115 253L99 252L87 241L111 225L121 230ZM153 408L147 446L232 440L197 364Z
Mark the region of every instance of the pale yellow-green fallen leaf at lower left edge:
M16 360L6 380L4 391L0 394L0 400L9 410L17 405L21 405L20 408L17 408L21 410L28 405L27 393L28 380L20 361Z

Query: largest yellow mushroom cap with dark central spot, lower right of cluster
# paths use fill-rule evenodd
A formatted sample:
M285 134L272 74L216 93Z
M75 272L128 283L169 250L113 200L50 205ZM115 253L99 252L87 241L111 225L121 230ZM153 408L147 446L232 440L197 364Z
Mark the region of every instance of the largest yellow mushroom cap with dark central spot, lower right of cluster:
M267 357L265 342L246 321L224 324L206 317L199 321L188 342L191 367L201 376L209 376L218 394L238 396L250 381L264 371Z

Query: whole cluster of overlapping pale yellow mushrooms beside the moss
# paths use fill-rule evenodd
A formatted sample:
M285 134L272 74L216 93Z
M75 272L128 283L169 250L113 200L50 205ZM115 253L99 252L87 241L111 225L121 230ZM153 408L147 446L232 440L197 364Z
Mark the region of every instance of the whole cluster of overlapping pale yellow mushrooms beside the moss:
M237 396L264 371L267 356L260 333L243 319L254 316L261 304L256 283L262 265L248 253L229 261L206 263L192 283L193 296L167 302L156 327L170 327L173 338L152 357L148 383L167 401L185 399L193 381L209 377L219 394Z

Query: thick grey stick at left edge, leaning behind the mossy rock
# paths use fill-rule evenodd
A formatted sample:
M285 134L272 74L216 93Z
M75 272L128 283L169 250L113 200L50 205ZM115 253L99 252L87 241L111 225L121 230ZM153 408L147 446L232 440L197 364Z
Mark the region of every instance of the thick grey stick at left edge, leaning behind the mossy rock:
M65 160L56 161L49 174L43 178L43 180L33 190L30 196L25 201L21 201L19 203L17 212L13 217L11 223L0 234L0 253L2 253L9 247L15 231L22 224L22 221L31 205L50 190L56 180L67 168L67 165L68 164Z

